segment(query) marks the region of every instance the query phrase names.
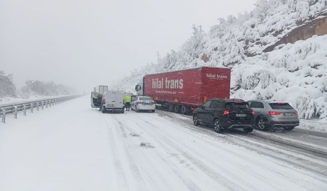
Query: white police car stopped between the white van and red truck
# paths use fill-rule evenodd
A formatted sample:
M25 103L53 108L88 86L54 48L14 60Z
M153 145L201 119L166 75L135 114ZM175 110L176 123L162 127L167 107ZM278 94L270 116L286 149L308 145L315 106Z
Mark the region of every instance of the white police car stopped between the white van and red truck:
M139 112L139 111L155 112L155 102L151 97L137 96L132 99L131 110L134 110L135 112Z

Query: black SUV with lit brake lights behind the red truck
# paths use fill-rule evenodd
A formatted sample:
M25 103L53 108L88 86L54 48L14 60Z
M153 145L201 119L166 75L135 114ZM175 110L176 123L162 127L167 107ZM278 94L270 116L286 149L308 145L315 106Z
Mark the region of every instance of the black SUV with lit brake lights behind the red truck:
M195 109L193 122L213 127L216 132L241 128L248 133L253 130L254 111L242 99L209 99Z

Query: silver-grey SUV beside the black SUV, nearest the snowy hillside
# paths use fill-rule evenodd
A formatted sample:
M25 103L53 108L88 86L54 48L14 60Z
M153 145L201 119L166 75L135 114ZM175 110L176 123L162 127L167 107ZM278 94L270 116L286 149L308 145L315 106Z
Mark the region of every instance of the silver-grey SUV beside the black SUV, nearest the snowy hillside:
M297 111L286 102L270 100L248 100L247 102L255 112L255 126L260 130L267 130L270 127L292 130L300 123Z

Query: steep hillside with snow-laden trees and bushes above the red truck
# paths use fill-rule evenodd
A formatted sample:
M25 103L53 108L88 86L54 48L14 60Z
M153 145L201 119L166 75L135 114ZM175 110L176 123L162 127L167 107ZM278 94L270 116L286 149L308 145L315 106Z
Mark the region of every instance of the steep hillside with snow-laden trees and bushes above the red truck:
M285 100L303 119L326 120L327 35L274 47L294 29L324 18L326 11L326 0L260 0L250 13L219 19L208 33L193 26L193 35L178 51L131 71L111 89L133 92L149 73L229 67L231 97Z

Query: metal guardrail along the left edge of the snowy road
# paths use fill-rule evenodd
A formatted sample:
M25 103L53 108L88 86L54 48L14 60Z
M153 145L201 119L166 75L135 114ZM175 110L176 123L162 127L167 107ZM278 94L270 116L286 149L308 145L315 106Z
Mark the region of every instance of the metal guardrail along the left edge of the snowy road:
M72 95L57 98L38 99L26 102L2 104L0 105L0 118L2 118L3 123L6 123L6 116L8 115L13 114L14 118L17 119L18 112L23 112L23 114L26 116L27 110L30 110L31 113L33 113L34 108L36 108L36 111L39 111L39 108L43 110L44 107L48 108L48 106L51 107L51 105L54 106L80 96L82 95Z

